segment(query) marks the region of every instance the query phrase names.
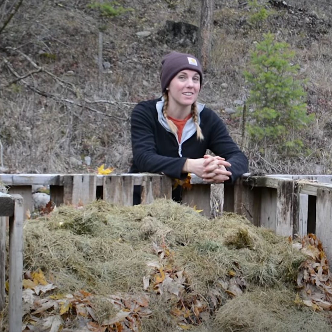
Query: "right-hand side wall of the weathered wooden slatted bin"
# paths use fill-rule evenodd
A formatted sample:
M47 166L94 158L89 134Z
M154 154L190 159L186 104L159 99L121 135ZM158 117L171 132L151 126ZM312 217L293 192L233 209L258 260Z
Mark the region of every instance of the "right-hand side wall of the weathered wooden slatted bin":
M292 179L290 176L246 175L232 188L234 204L228 210L243 214L253 224L273 229L280 235L315 233L332 264L330 178L326 176L327 183L320 183L312 182L309 176Z

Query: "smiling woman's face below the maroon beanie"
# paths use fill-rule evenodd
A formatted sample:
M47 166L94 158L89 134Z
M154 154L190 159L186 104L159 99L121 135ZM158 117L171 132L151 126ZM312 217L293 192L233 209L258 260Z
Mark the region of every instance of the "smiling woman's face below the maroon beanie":
M200 74L197 71L181 70L168 86L168 99L179 106L192 105L198 98L200 88Z

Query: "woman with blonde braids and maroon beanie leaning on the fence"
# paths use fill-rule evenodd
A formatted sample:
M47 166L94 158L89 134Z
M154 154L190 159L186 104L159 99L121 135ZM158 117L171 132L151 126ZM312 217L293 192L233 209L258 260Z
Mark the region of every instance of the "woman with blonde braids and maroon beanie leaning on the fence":
M132 111L129 172L176 179L194 173L207 182L234 182L247 172L248 159L218 115L197 102L203 80L198 59L171 52L161 64L162 98L143 101ZM207 155L207 149L216 156ZM181 194L173 198L178 201Z

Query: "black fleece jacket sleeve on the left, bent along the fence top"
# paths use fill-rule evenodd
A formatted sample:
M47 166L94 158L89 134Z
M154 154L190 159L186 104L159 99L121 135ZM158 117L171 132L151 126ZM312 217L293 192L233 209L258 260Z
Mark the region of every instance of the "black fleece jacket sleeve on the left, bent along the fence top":
M183 166L187 158L167 157L157 153L155 124L147 109L140 103L131 114L131 144L134 164L139 172L164 173L172 178L183 178ZM154 130L155 129L155 130ZM161 128L161 130L165 130ZM167 144L167 142L165 142Z

